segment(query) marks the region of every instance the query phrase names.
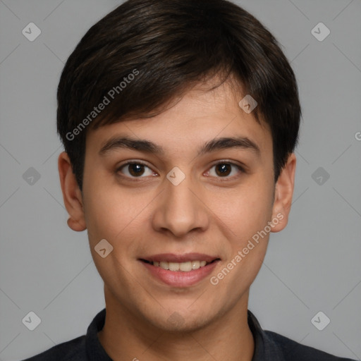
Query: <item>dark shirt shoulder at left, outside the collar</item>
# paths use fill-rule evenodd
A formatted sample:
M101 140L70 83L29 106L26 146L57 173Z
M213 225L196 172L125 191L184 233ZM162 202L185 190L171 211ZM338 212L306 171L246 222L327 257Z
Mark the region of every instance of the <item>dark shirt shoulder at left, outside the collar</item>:
M23 361L82 361L87 360L85 353L85 335L59 343L49 350Z

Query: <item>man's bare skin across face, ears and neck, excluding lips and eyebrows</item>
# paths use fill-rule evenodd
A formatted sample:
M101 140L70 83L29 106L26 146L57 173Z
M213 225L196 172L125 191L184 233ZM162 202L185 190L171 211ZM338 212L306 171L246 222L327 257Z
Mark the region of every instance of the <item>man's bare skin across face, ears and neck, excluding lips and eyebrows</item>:
M286 227L296 158L290 154L275 184L269 127L238 106L242 98L228 82L212 92L200 85L154 118L89 131L82 192L68 155L59 155L68 226L74 231L87 228L92 257L104 280L106 320L98 336L113 360L252 359L255 344L247 302L269 233L216 286L209 279L277 214L283 219L271 231ZM104 142L118 134L152 141L165 154L114 149L100 156ZM235 135L255 142L259 157L240 148L197 156L205 142ZM232 166L224 175L214 166L219 160L244 164L245 172ZM126 161L147 166L140 176L130 173L129 166L117 171ZM176 186L166 178L175 166L185 174ZM114 250L102 258L94 247L104 238ZM164 252L200 252L221 261L195 285L173 288L154 279L138 260ZM176 322L169 321L173 312Z

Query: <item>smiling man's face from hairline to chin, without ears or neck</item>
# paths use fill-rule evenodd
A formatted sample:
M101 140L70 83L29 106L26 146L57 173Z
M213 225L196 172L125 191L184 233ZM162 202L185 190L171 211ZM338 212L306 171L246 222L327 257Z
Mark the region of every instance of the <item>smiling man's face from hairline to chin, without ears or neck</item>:
M154 118L87 135L82 201L92 257L111 298L106 302L142 322L195 329L247 307L269 238L269 231L257 232L269 229L279 211L271 133L240 108L240 99L228 85L192 90ZM114 143L100 152L116 137L147 140L163 153ZM226 137L250 142L199 154ZM113 246L104 258L94 250L103 239ZM192 271L166 270L178 263Z

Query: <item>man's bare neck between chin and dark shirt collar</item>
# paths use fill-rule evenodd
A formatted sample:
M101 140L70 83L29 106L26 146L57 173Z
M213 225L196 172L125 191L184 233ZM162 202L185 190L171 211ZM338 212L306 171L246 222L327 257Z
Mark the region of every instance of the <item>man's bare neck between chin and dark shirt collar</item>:
M114 361L251 361L255 343L247 324L247 300L201 329L169 332L120 307L106 292L106 319L98 338Z

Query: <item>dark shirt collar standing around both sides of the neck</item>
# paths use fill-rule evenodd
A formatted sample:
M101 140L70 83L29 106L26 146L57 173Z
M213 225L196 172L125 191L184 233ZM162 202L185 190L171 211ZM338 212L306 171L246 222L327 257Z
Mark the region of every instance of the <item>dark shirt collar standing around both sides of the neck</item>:
M106 309L100 311L87 328L85 348L90 361L112 361L99 341L97 333L105 322ZM255 340L255 353L252 361L284 361L279 346L264 332L257 318L247 310L247 322Z

